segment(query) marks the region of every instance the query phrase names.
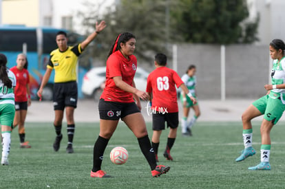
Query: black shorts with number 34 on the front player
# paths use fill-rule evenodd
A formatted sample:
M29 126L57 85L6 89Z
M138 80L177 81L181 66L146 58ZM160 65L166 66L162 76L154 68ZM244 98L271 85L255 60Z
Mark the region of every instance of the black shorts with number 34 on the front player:
M119 120L132 113L140 112L135 102L110 102L102 98L99 100L98 109L101 120Z

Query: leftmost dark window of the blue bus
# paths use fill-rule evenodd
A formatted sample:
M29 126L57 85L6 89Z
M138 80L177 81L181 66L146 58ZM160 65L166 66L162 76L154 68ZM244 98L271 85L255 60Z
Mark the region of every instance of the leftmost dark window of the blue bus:
M28 52L36 52L35 30L1 30L0 41L1 51L22 52L23 43L26 43Z

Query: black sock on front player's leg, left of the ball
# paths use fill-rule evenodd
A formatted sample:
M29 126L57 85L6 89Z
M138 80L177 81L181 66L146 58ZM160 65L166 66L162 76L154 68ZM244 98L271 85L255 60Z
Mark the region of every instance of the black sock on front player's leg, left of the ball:
M94 150L93 150L93 168L92 168L93 172L101 170L103 155L108 142L109 139L98 136L98 139L94 144Z

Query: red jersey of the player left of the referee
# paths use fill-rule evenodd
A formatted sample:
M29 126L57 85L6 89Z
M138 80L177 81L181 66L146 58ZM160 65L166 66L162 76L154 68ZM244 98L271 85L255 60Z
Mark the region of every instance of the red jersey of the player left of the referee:
M30 83L29 72L27 69L18 69L16 66L10 69L17 79L15 87L15 102L26 102L27 98L27 85Z

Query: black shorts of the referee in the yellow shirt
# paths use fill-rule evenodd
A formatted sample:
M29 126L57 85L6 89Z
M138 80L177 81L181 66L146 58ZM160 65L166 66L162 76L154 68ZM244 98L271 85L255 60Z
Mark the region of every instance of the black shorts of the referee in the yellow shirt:
M64 110L65 107L77 107L77 82L54 83L54 110Z

